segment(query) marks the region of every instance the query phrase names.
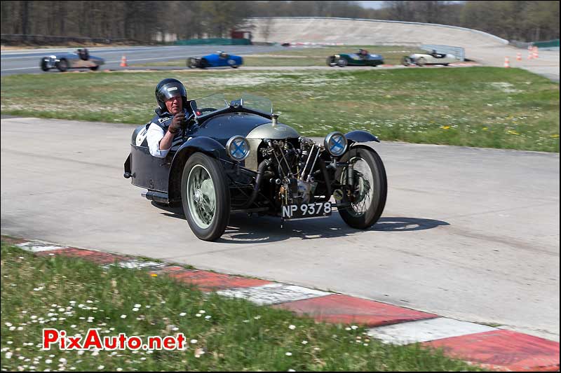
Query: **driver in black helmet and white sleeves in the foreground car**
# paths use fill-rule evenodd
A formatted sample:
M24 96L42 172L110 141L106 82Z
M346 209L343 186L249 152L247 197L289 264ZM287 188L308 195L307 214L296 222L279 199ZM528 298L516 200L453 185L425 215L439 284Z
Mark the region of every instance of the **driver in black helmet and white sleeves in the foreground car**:
M179 80L166 78L156 85L156 102L158 108L148 124L146 139L150 154L163 158L182 142L181 130L187 126L187 90Z

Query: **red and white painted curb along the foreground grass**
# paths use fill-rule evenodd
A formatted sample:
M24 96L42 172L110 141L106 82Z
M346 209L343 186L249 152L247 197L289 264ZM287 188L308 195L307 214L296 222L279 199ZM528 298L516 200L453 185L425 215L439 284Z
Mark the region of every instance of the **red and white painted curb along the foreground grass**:
M44 241L6 241L41 256L64 255L90 260L104 267L118 265L130 269L148 269L151 273L165 274L177 281L196 285L203 292L216 292L259 305L271 305L316 321L363 325L370 328L368 335L381 342L399 345L419 343L421 346L442 349L451 358L465 360L490 370L559 371L559 342L520 332L302 286L184 269Z

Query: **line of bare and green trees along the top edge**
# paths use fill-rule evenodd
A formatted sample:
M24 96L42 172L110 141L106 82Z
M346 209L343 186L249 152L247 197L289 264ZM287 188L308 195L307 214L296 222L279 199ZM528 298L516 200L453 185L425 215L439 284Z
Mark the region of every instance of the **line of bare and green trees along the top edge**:
M1 1L1 33L128 39L229 37L247 17L349 17L450 24L517 41L559 38L559 1Z

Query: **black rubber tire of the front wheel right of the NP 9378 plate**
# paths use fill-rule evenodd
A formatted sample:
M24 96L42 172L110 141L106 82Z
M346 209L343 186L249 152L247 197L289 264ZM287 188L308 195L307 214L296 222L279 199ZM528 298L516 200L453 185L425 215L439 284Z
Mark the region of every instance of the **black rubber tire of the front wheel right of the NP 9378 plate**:
M353 206L338 207L338 210L339 215L347 225L359 230L365 230L372 227L380 218L382 211L384 211L386 196L388 194L388 181L384 163L374 149L363 147L352 148L342 157L341 161L349 162L349 160L352 160L353 164L356 164L359 159L363 160L370 168L370 172L372 172L372 181L374 184L370 185L373 191L372 199L369 198L367 209L362 213L357 213ZM354 174L356 176L358 175L356 169ZM338 171L336 178L341 181L345 176L346 171ZM360 181L360 178L356 178L356 182L357 181ZM342 203L348 202L347 197L344 197Z

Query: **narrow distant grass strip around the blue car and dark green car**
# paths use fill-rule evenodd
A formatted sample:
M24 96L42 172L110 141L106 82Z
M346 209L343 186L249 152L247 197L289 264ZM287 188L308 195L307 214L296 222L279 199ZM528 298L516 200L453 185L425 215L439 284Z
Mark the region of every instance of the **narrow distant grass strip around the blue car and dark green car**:
M359 48L372 54L382 55L384 64L400 64L401 58L414 52L421 52L414 47L401 45L342 45L323 48L286 48L259 55L243 56L244 66L326 66L325 59L338 53L355 53ZM148 62L132 66L185 66L187 58L165 62ZM371 68L372 69L372 68Z

